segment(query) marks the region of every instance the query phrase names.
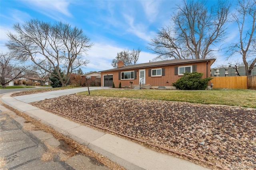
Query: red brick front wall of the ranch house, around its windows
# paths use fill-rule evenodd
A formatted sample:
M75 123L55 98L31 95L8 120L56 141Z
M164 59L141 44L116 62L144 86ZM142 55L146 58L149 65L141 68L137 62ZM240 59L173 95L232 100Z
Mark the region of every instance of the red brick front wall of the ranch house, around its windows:
M189 66L189 65L196 65L196 71L199 73L203 73L202 78L206 78L206 61L201 63L191 63L191 64L180 64L180 65L170 65L170 66L163 66L165 68L165 75L164 76L151 76L148 77L148 69L157 69L157 68L163 68L163 67L150 67L145 68L145 79L146 79L146 85L150 84L151 86L172 86L172 83L176 82L181 75L174 75L174 67L179 66ZM208 61L208 77L210 77L210 61ZM109 71L109 72L102 72L101 73L101 82L102 86L103 84L103 75L113 75L113 82L115 86L119 85L119 82L121 82L122 86L130 86L130 81L133 82L132 85L139 85L139 70L140 69L130 69L125 71L135 71L137 70L137 79L132 80L118 80L118 72L119 71ZM167 83L168 81L168 83Z

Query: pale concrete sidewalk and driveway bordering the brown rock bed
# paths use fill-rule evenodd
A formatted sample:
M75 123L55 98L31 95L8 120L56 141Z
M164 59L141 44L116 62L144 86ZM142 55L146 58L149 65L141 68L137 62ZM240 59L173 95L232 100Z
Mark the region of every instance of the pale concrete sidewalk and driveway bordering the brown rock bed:
M91 88L99 89L99 87ZM1 97L3 103L26 113L34 119L53 127L56 131L69 136L80 144L86 145L91 150L106 156L113 162L129 170L206 170L203 166L194 164L187 160L176 158L168 154L162 154L140 144L131 142L104 133L68 119L54 115L28 103L44 99L59 97L84 91L85 88L66 89L60 91L51 91L33 95L10 97L10 93Z

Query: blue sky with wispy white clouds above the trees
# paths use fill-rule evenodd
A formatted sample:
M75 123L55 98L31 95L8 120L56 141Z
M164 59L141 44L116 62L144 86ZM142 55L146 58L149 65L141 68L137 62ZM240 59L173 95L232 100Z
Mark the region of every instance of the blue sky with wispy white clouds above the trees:
M112 59L124 49L141 48L137 63L146 63L156 57L146 49L150 38L154 38L158 29L170 24L176 4L182 1L0 0L0 50L8 51L4 46L5 34L12 32L14 23L37 18L52 23L62 21L83 29L94 43L86 56L90 63L82 68L84 72L111 69ZM228 30L226 43L237 37L233 32L236 27L232 24L228 27L233 30ZM224 52L216 52L217 60L212 67L227 64L226 57Z

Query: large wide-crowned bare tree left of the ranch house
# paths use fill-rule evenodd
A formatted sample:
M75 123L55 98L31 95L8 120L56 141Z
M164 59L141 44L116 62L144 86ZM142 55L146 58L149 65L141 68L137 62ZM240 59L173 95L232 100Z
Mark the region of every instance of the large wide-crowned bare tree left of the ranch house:
M92 43L81 29L62 22L50 24L39 20L30 20L23 25L14 24L13 28L16 34L8 32L7 47L17 58L33 61L48 73L51 70L44 68L42 63L50 62L62 87L67 85L75 69L88 63L84 55ZM66 69L64 79L60 68Z

